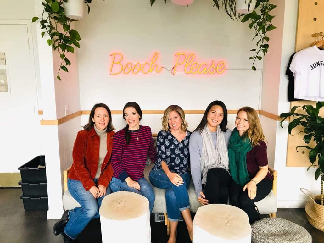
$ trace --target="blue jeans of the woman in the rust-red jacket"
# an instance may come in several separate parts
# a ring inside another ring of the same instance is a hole
[[[97,184],[98,179],[94,179]],[[101,201],[105,196],[94,198],[90,191],[86,191],[79,180],[67,180],[67,188],[72,197],[80,203],[81,207],[69,211],[69,221],[67,222],[64,232],[72,239],[76,239],[78,234],[87,226],[93,218],[99,217],[99,208]],[[106,196],[110,194],[110,188],[106,190]]]

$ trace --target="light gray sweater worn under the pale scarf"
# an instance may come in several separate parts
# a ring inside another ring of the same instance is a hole
[[[224,133],[226,145],[228,145],[229,137],[232,131],[227,128]],[[214,145],[216,146],[217,132],[211,133]],[[190,170],[193,185],[195,186],[195,191],[197,197],[200,197],[200,191],[202,191],[202,173],[200,171],[200,156],[203,151],[203,138],[199,131],[194,131],[189,140],[189,153],[190,153]]]

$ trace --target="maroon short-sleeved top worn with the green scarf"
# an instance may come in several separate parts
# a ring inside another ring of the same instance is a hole
[[[254,178],[259,171],[259,166],[268,165],[267,145],[264,141],[259,141],[260,145],[255,145],[246,154],[246,167],[248,169],[249,178]],[[272,179],[269,171],[264,179]]]

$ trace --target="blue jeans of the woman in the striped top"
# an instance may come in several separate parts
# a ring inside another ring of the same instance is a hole
[[[151,186],[150,183],[147,182],[147,180],[145,180],[145,178],[140,178],[138,179],[138,184],[140,184],[141,189],[137,190],[133,187],[129,187],[126,183],[126,181],[121,182],[120,179],[112,177],[111,181],[110,181],[110,189],[113,192],[116,191],[132,191],[135,192],[137,194],[140,194],[142,196],[145,196],[149,203],[150,203],[150,214],[152,213],[153,210],[153,206],[154,206],[154,201],[155,201],[155,195],[154,195],[154,191],[153,188]]]

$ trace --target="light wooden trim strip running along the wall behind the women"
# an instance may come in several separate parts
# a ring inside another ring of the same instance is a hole
[[[264,111],[264,110],[256,110],[258,114],[268,117],[275,121],[280,121],[280,116],[272,114],[270,112]],[[164,110],[143,110],[143,114],[146,115],[163,115]],[[202,115],[205,110],[184,110],[185,114],[193,114],[193,115]],[[39,110],[38,114],[42,114],[43,111]],[[228,114],[236,114],[237,110],[227,110]],[[59,118],[58,120],[41,120],[42,126],[58,126],[66,121],[70,121],[71,119],[81,116],[81,115],[89,115],[90,110],[79,110],[77,112],[74,112],[72,114],[69,114],[67,116],[64,116],[62,118]],[[113,115],[122,115],[122,110],[111,110],[111,114]]]

